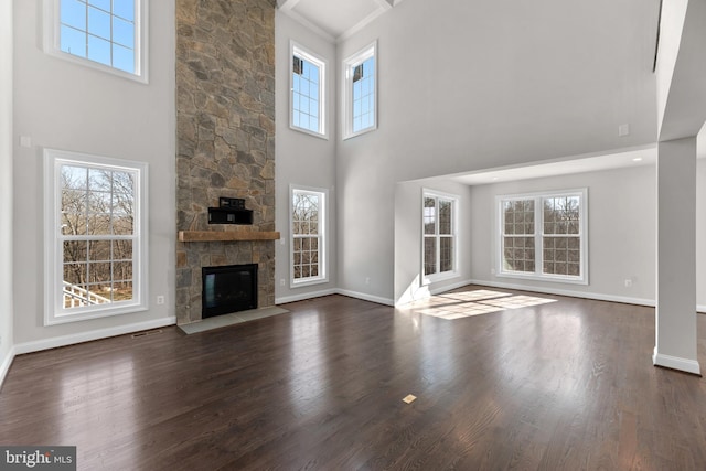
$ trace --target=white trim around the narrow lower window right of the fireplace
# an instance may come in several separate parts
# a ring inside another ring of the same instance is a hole
[[[319,276],[309,277],[304,279],[295,279],[295,192],[314,193],[322,197],[321,208],[319,210]],[[328,229],[329,229],[329,189],[306,186],[306,185],[289,185],[289,288],[301,288],[304,286],[321,285],[329,282],[329,267],[328,267]],[[323,222],[321,217],[323,216]]]

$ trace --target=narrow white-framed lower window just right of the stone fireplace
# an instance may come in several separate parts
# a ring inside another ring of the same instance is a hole
[[[290,285],[292,287],[328,281],[327,199],[327,190],[291,188]]]

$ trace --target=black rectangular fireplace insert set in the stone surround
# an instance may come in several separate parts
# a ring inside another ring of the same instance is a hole
[[[257,264],[202,268],[203,319],[257,309]]]

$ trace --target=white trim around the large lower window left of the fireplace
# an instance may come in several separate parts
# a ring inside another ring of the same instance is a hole
[[[132,300],[116,304],[99,304],[76,308],[75,311],[62,312],[63,296],[63,239],[61,228],[61,184],[60,168],[62,164],[106,168],[136,172],[136,210],[135,240],[132,247]],[[149,260],[149,218],[148,218],[148,173],[146,162],[136,162],[87,153],[71,152],[57,149],[44,149],[44,325],[85,321],[146,311],[148,307],[148,260]]]

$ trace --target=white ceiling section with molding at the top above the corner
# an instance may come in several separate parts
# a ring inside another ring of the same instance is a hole
[[[338,41],[402,0],[278,0],[279,9],[322,36]]]

